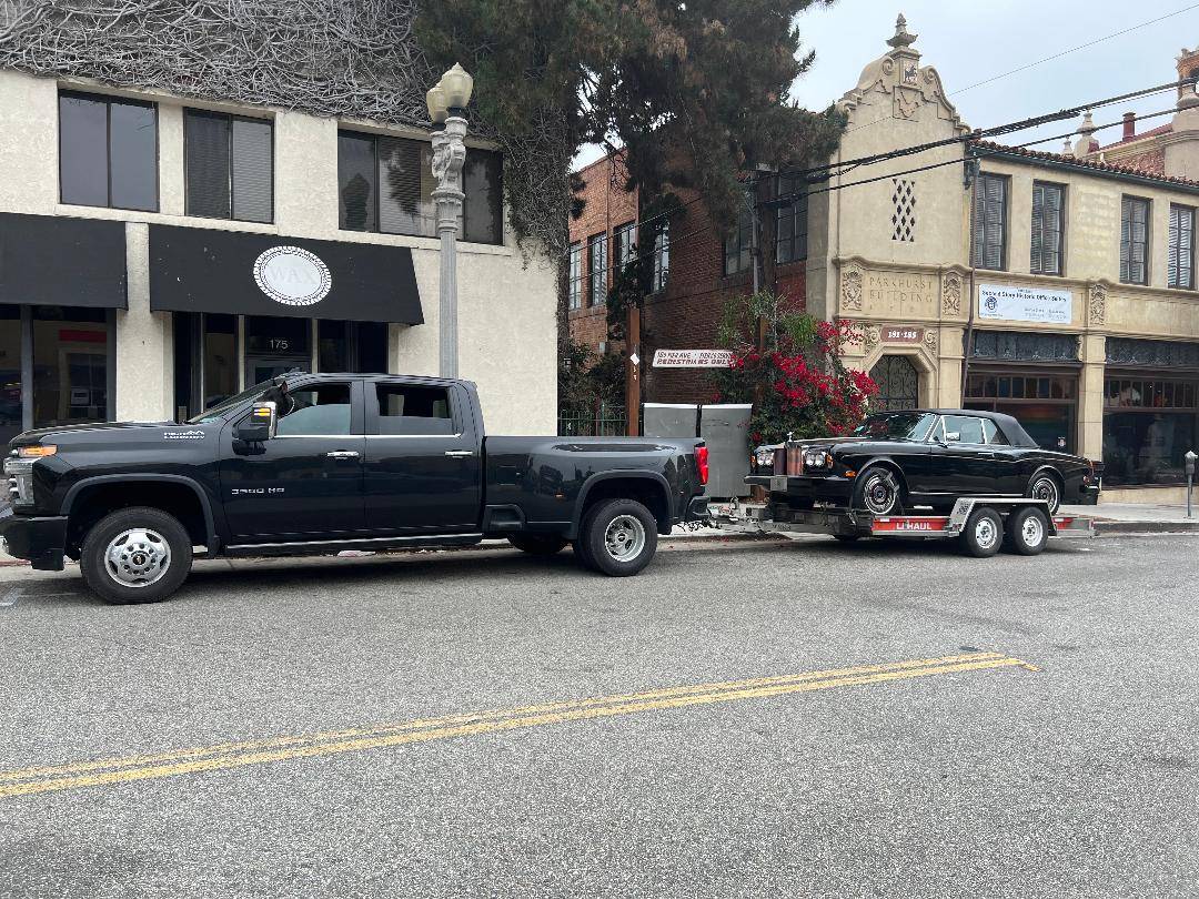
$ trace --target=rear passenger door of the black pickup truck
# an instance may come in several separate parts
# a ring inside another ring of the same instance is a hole
[[[452,381],[364,384],[367,527],[376,535],[474,533],[482,513],[482,435]]]

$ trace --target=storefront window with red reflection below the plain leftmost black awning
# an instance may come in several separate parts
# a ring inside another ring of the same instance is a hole
[[[34,309],[34,427],[103,422],[110,326],[104,309]]]

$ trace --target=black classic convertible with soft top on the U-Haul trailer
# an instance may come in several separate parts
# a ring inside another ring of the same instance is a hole
[[[1042,450],[1008,415],[965,409],[879,412],[846,438],[759,447],[746,481],[776,505],[815,503],[875,515],[927,506],[948,509],[959,496],[1031,496],[1053,511],[1093,505],[1096,466]]]

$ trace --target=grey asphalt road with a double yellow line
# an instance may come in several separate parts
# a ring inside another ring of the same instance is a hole
[[[1195,895],[1197,554],[0,569],[0,895]]]

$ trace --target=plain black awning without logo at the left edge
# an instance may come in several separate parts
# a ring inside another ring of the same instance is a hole
[[[125,309],[125,222],[0,213],[0,303]]]

